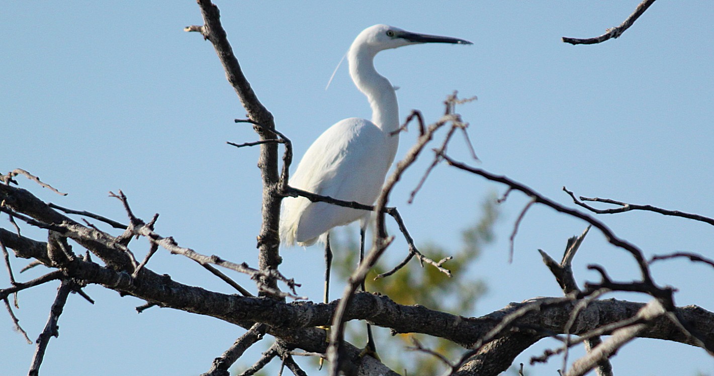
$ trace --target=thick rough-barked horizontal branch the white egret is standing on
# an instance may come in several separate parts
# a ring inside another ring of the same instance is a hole
[[[21,243],[13,239],[18,235],[9,231],[0,232],[0,236],[9,248],[11,248],[11,244]],[[41,250],[42,247],[38,245],[32,249]],[[149,269],[144,269],[139,278],[131,278],[127,273],[104,268],[79,258],[68,265],[67,273],[69,276],[85,280],[87,283],[99,283],[107,288],[134,295],[149,302],[160,302],[161,305],[168,308],[210,315],[244,327],[253,325],[252,323],[246,324],[246,322],[263,322],[273,326],[271,330],[268,330],[272,335],[290,340],[294,347],[310,352],[325,352],[324,330],[304,329],[301,332],[296,332],[295,329],[288,328],[328,325],[336,307],[334,302],[328,305],[311,302],[282,303],[268,298],[246,298],[238,295],[213,293],[202,288],[177,283],[170,278],[156,275]],[[375,325],[389,327],[393,332],[421,332],[470,347],[489,330],[492,330],[498,322],[501,322],[505,315],[521,308],[524,304],[526,303],[513,303],[503,310],[484,317],[466,318],[429,310],[422,306],[398,305],[384,296],[357,293],[353,297],[353,304],[346,308],[345,319],[369,320]],[[540,313],[524,315],[516,321],[515,325],[539,327],[544,331],[555,333],[563,332],[569,319],[568,313],[574,308],[573,304],[567,303],[557,308],[544,308],[540,310]],[[619,300],[597,300],[590,303],[578,315],[570,332],[579,335],[610,322],[625,320],[635,315],[643,305],[643,303]],[[696,306],[675,308],[675,313],[680,317],[680,321],[698,327],[698,330],[703,333],[706,345],[714,346],[714,313]],[[640,332],[640,336],[696,345],[690,337],[681,333],[670,320],[660,317],[655,322],[655,325]],[[538,339],[536,337],[533,340],[537,341]],[[358,349],[351,348],[354,349],[356,355],[359,353]],[[351,357],[348,356],[348,359]],[[362,362],[367,360],[371,362],[372,359],[363,357]]]

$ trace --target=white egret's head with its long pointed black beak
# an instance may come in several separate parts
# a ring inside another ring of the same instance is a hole
[[[352,44],[352,49],[368,49],[376,54],[386,49],[422,43],[472,44],[463,39],[448,36],[417,34],[389,25],[374,25],[364,29]]]

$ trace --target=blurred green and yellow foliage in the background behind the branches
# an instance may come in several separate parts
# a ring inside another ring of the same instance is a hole
[[[451,278],[432,265],[425,264],[422,268],[418,260],[413,258],[397,273],[374,280],[376,275],[390,270],[399,261],[383,258],[367,276],[367,290],[388,295],[403,305],[419,304],[456,315],[473,315],[478,298],[486,292],[486,285],[470,269],[476,263],[483,246],[493,241],[493,224],[498,219],[495,198],[485,200],[480,210],[476,211],[481,213],[481,218],[475,225],[462,231],[460,248],[453,250],[436,243],[417,245],[421,253],[433,260],[453,256],[453,260],[444,265],[451,270]],[[333,263],[333,270],[336,271],[333,278],[346,280],[357,265],[359,250],[356,238],[350,234],[346,236],[345,233],[331,236],[333,250],[338,250],[340,255]],[[388,330],[379,327],[373,327],[373,332],[381,360],[393,370],[404,370],[405,375],[437,375],[445,369],[443,362],[433,355],[424,352],[405,353],[405,347],[413,347],[412,337],[416,337],[423,347],[450,360],[458,358],[464,351],[463,347],[453,342],[427,335],[391,336]],[[366,330],[362,323],[353,323],[348,327],[347,335],[348,340],[356,345],[366,343]]]

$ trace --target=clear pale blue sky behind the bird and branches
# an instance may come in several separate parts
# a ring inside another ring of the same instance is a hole
[[[453,90],[478,101],[459,112],[481,165],[570,205],[576,194],[650,203],[714,216],[711,187],[714,3],[657,1],[620,39],[570,46],[561,36],[590,37],[617,26],[639,1],[361,1],[340,3],[220,1],[223,26],[243,71],[272,111],[278,129],[301,156],[324,129],[342,118],[370,118],[368,103],[346,66],[325,85],[354,37],[384,23],[409,31],[455,36],[473,46],[410,46],[385,51],[376,66],[400,86],[404,118],[411,108],[435,121]],[[0,170],[24,168],[69,195],[61,197],[20,179],[39,197],[126,221],[109,190],[124,190],[135,213],[160,213],[157,231],[200,253],[257,264],[261,187],[258,150],[226,141],[254,141],[236,125],[243,109],[225,80],[211,44],[183,26],[201,24],[194,1],[6,1],[0,12]],[[416,139],[403,134],[397,158]],[[468,160],[456,140],[451,155]],[[478,205],[503,186],[446,166],[436,169],[413,205],[408,193],[430,158],[422,158],[392,195],[417,243],[458,246]],[[585,223],[533,207],[508,263],[508,236],[527,203],[516,193],[501,205],[498,241],[473,273],[488,295],[473,313],[484,315],[537,296],[561,295],[537,249],[559,255]],[[714,228],[654,213],[601,216],[646,255],[686,250],[714,257]],[[2,220],[4,228],[9,223]],[[41,233],[24,226],[24,235]],[[134,252],[148,250],[143,240]],[[389,257],[406,254],[396,243]],[[303,283],[299,293],[321,299],[320,248],[283,250],[283,273]],[[340,256],[336,255],[338,261]],[[12,260],[19,270],[26,260]],[[623,250],[591,231],[575,259],[578,281],[603,265],[613,278],[638,277]],[[195,263],[161,250],[149,263],[181,283],[232,293]],[[35,268],[19,277],[46,273]],[[678,305],[714,310],[714,270],[676,260],[653,265],[660,285],[673,285]],[[254,288],[247,278],[236,279]],[[0,283],[8,286],[6,273]],[[339,285],[339,281],[336,281]],[[41,332],[56,283],[20,295],[16,314],[32,339]],[[339,288],[336,287],[338,291]],[[99,286],[89,305],[71,295],[41,375],[197,375],[208,370],[242,330],[210,317],[151,308]],[[640,300],[640,295],[610,297]],[[542,341],[516,360],[540,355]],[[262,347],[261,347],[262,348]],[[3,375],[24,375],[34,346],[0,313]],[[243,364],[257,359],[258,350]],[[571,355],[572,356],[572,355]],[[704,350],[636,340],[613,358],[618,375],[714,374]],[[560,360],[527,367],[556,375]],[[311,367],[308,372],[318,374]]]

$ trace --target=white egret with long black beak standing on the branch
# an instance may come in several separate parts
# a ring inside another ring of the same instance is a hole
[[[372,120],[346,118],[328,128],[306,151],[290,186],[340,200],[374,204],[394,161],[400,125],[394,87],[377,73],[374,56],[386,49],[423,43],[471,44],[463,39],[416,34],[388,25],[370,26],[357,36],[347,54],[350,76],[367,96]],[[369,217],[367,210],[312,203],[303,197],[284,200],[280,230],[283,244],[306,246],[318,240],[325,243],[325,303],[332,259],[329,231],[359,220],[362,260]]]

